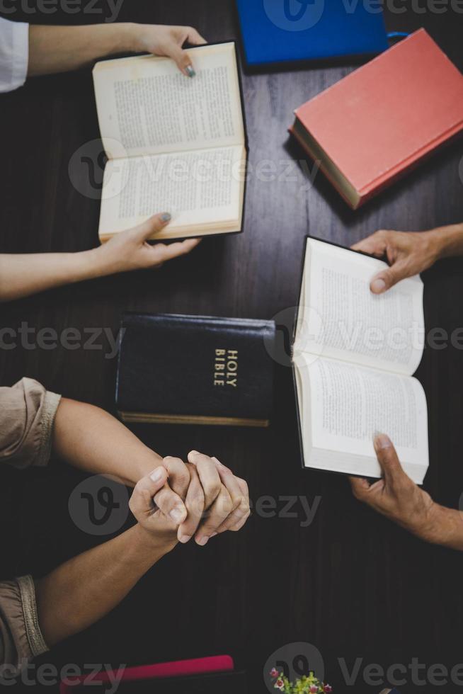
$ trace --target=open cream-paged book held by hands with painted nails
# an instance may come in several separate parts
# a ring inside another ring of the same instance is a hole
[[[108,156],[101,241],[156,212],[172,215],[156,239],[241,231],[247,152],[235,44],[188,52],[193,78],[151,55],[93,68]]]

